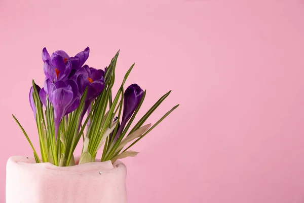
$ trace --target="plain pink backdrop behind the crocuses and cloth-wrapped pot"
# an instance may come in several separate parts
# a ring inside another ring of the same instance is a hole
[[[304,202],[304,2],[0,1],[0,196],[12,155],[39,146],[28,104],[44,80],[41,51],[91,48],[117,81],[147,89],[149,120],[180,107],[133,150],[129,202]],[[117,88],[117,86],[116,86]]]

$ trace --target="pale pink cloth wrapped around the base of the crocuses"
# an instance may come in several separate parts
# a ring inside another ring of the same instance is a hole
[[[126,175],[120,161],[58,167],[13,156],[7,163],[6,202],[126,203]]]

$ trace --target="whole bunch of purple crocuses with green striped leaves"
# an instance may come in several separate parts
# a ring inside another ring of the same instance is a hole
[[[25,130],[13,115],[32,147],[37,163],[51,162],[57,166],[74,165],[73,152],[83,138],[84,145],[79,164],[94,162],[97,151],[103,147],[101,161],[135,156],[129,148],[155,128],[174,109],[168,111],[153,126],[144,124],[171,91],[163,95],[142,118],[131,127],[146,91],[137,84],[124,90],[125,82],[134,64],[126,73],[115,96],[112,87],[119,51],[104,70],[84,65],[89,57],[87,47],[74,57],[63,50],[50,54],[42,51],[45,82],[40,88],[32,81],[29,103],[34,113],[39,134],[41,159]]]

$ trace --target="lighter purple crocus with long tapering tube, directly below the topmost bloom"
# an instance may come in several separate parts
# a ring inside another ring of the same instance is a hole
[[[78,86],[72,80],[52,83],[50,79],[47,79],[39,95],[44,105],[46,105],[46,95],[53,105],[55,138],[57,138],[63,116],[77,109],[80,104]]]

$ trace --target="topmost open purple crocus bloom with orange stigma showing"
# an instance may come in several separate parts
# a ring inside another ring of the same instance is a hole
[[[69,57],[63,50],[58,50],[50,56],[46,48],[42,50],[42,60],[44,61],[44,72],[51,81],[66,80],[74,75],[89,57],[90,48],[79,52],[74,57]]]

